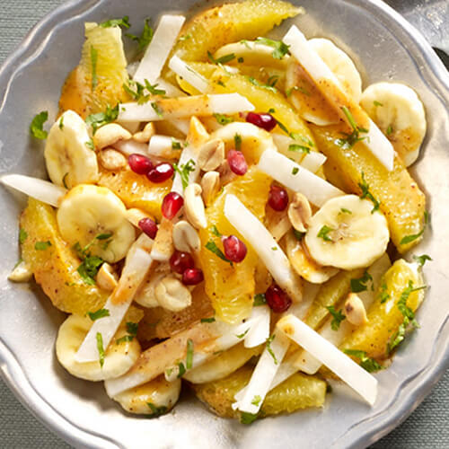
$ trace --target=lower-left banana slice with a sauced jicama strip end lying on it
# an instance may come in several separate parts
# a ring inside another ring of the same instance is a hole
[[[100,365],[100,351],[98,362],[79,363],[75,361],[76,351],[83,343],[89,329],[91,329],[92,322],[90,318],[85,316],[70,315],[61,324],[57,332],[57,360],[70,374],[86,381],[104,381],[125,374],[136,363],[141,352],[137,339],[117,343],[118,339],[128,335],[125,326],[120,326],[117,330],[110,347],[104,348],[104,364],[102,367]]]

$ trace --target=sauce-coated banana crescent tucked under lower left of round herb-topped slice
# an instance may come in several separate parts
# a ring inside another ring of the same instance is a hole
[[[304,248],[304,242],[298,242],[294,233],[286,234],[286,255],[296,273],[312,284],[322,284],[335,276],[339,269],[321,267]]]

